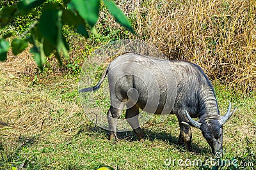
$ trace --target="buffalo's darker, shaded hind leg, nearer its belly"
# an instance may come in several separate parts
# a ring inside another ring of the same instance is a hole
[[[127,105],[128,107],[128,105]],[[142,140],[145,137],[144,132],[140,128],[139,124],[139,108],[137,105],[132,106],[131,108],[128,108],[126,110],[125,119],[131,125],[133,131],[135,132],[136,136],[140,140]]]

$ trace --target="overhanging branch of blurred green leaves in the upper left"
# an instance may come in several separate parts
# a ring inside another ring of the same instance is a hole
[[[30,52],[33,53],[35,62],[42,71],[46,57],[51,53],[54,53],[61,66],[61,56],[63,55],[67,59],[69,57],[68,44],[62,32],[63,25],[70,26],[84,38],[88,38],[88,31],[92,30],[99,20],[100,4],[104,4],[108,8],[116,22],[135,33],[127,17],[113,1],[63,0],[62,3],[58,3],[58,1],[51,0],[22,0],[17,5],[2,8],[0,29],[10,25],[16,17],[26,16],[35,9],[42,10],[40,17],[31,24],[28,31],[19,38],[13,38],[11,43],[0,38],[0,60],[6,60],[10,48],[12,48],[13,54],[17,55],[28,48],[30,43],[32,45]],[[8,35],[4,37],[8,38]]]

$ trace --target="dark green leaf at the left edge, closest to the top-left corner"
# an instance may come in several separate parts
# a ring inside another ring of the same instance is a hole
[[[16,16],[16,6],[4,7],[0,13],[0,27],[4,27]]]

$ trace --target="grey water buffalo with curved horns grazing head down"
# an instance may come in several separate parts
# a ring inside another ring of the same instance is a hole
[[[179,143],[191,150],[191,129],[202,131],[212,153],[223,152],[223,124],[236,111],[220,115],[216,94],[211,81],[201,67],[183,60],[164,60],[125,53],[113,60],[99,83],[79,90],[99,89],[108,74],[111,106],[107,117],[110,139],[116,138],[117,119],[124,106],[125,118],[139,139],[145,134],[138,122],[139,108],[148,113],[175,114],[179,120]],[[198,117],[196,122],[193,118]]]

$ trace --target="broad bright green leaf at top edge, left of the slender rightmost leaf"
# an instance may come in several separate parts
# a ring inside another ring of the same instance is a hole
[[[99,18],[99,0],[72,0],[68,8],[76,10],[79,15],[93,27]]]

